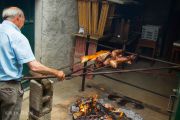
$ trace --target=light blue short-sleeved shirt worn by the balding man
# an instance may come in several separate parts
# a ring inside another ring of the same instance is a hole
[[[23,64],[35,60],[28,39],[12,22],[0,24],[0,81],[22,77]]]

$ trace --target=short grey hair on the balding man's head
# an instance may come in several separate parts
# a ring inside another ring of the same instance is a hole
[[[2,18],[3,20],[11,20],[15,16],[23,17],[24,13],[23,11],[18,7],[9,7],[5,8],[2,12]]]

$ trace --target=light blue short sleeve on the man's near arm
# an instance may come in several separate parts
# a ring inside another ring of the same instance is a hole
[[[21,33],[13,35],[12,48],[19,64],[28,63],[35,60],[28,39]]]

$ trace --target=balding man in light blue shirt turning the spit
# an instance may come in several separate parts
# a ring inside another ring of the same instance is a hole
[[[27,38],[20,29],[25,17],[21,9],[9,7],[3,10],[0,24],[0,120],[18,120],[22,93],[20,80],[23,64],[30,70],[44,75],[55,75],[63,80],[65,74],[36,61]]]

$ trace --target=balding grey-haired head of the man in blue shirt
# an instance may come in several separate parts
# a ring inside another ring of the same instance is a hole
[[[2,13],[3,20],[13,22],[19,29],[24,26],[25,17],[23,11],[18,7],[5,8]]]

